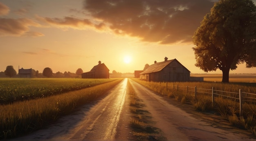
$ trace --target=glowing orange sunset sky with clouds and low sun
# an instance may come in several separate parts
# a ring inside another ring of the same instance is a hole
[[[193,74],[192,36],[216,0],[0,0],[0,72],[112,73],[177,59]],[[256,0],[254,0],[254,3]],[[208,72],[221,74],[220,70]],[[256,73],[238,65],[230,73]]]

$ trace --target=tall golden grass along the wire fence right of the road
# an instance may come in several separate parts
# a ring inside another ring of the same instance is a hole
[[[162,95],[167,95],[168,98],[174,98],[177,101],[185,104],[191,104],[196,111],[214,111],[215,113],[219,113],[223,118],[227,119],[232,125],[246,129],[249,132],[252,132],[254,136],[256,136],[256,105],[250,103],[243,104],[243,115],[239,115],[239,103],[225,99],[216,97],[214,99],[214,103],[212,104],[211,95],[207,94],[198,94],[195,100],[195,95],[188,94],[186,91],[177,89],[167,89],[166,83],[162,83],[159,85],[159,82],[146,82],[141,81],[136,78],[132,78],[132,80],[139,82],[141,85],[158,92]],[[175,82],[175,85],[179,86],[197,86],[200,88],[210,89],[214,87],[214,89],[218,89],[220,91],[238,91],[239,89],[243,89],[243,91],[247,91],[248,93],[255,93],[256,87],[255,84],[252,83],[216,83],[216,82]]]

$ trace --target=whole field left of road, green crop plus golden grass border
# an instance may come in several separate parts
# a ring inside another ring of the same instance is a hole
[[[99,99],[121,80],[123,79],[0,79],[1,100],[9,103],[0,104],[0,139],[18,137],[43,128],[58,117],[75,111],[77,107]]]

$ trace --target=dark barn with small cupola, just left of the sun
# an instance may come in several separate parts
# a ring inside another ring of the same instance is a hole
[[[101,61],[98,62],[98,65],[95,65],[90,72],[82,73],[82,78],[109,78],[109,69]]]

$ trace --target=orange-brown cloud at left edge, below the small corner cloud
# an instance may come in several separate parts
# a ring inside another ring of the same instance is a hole
[[[39,27],[40,24],[27,18],[0,18],[0,36],[42,36],[42,33],[30,32],[29,26]]]

